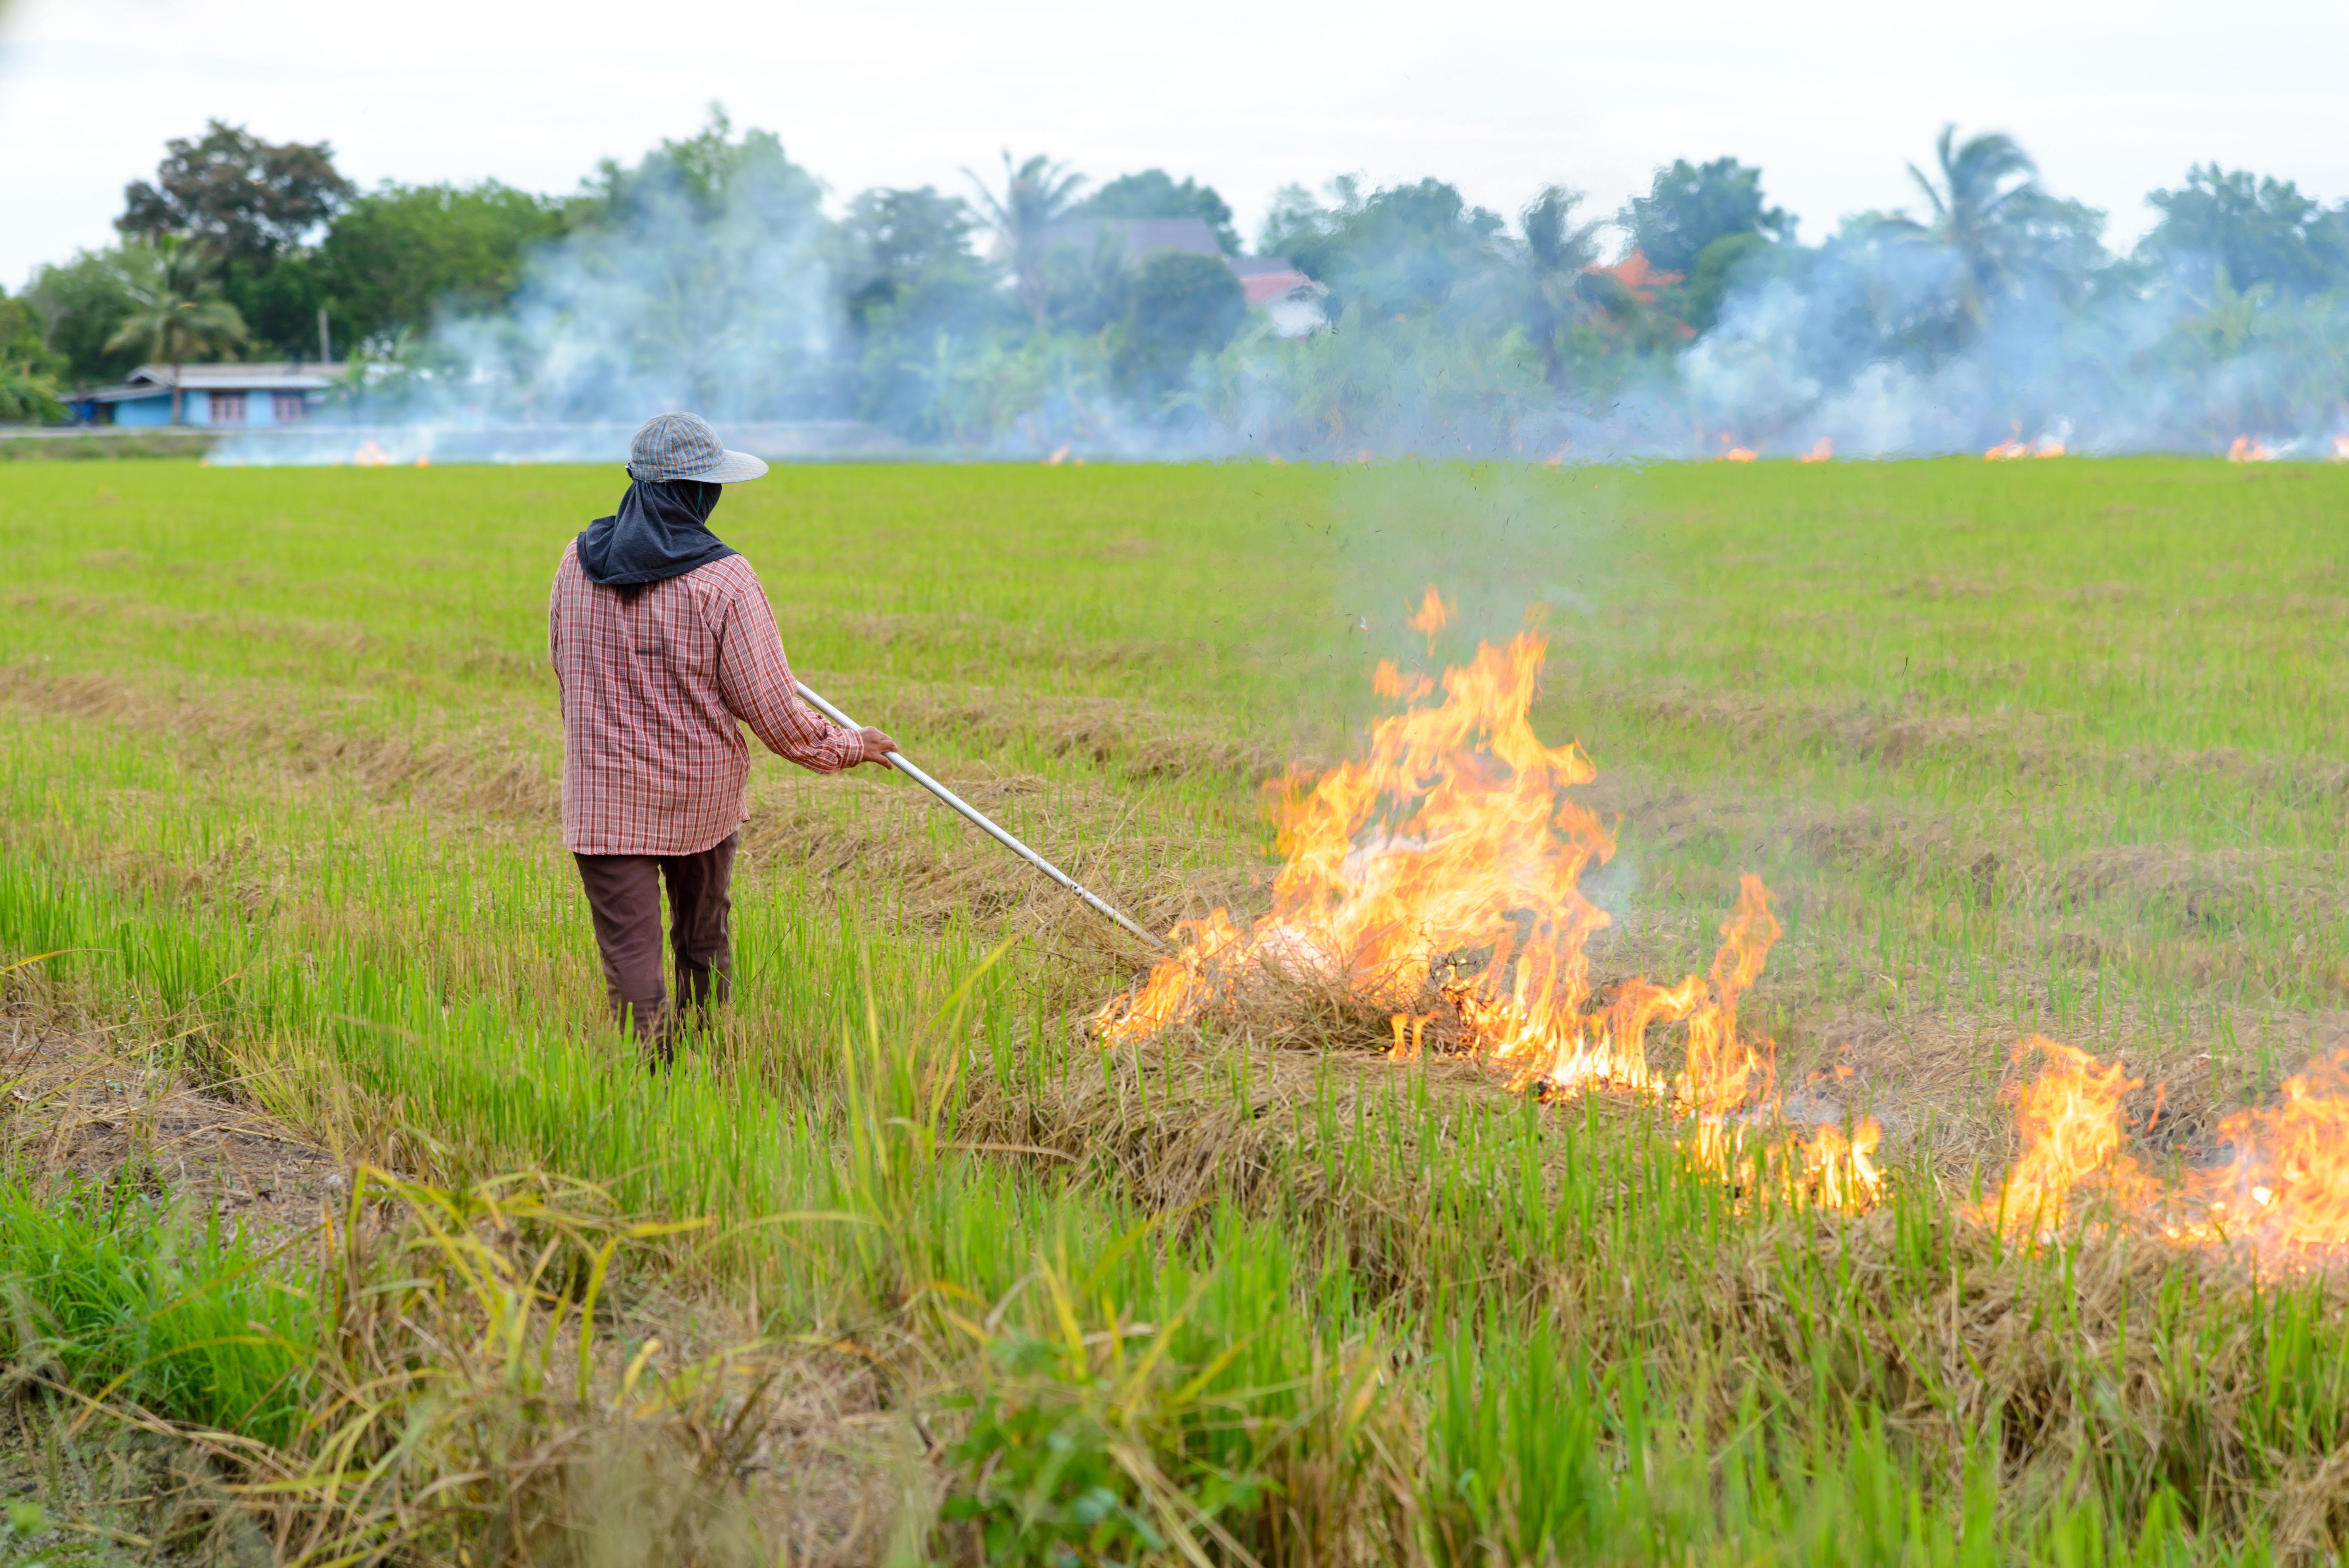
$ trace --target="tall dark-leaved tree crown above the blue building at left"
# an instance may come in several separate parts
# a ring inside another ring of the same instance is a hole
[[[202,141],[167,141],[155,183],[122,190],[115,228],[127,237],[190,235],[256,275],[327,223],[350,197],[324,141],[261,141],[211,120]]]

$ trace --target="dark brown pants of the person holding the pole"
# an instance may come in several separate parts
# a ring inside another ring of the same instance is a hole
[[[677,1049],[679,1014],[707,1016],[733,988],[733,852],[738,833],[700,854],[573,854],[594,946],[604,955],[604,995],[622,1026],[653,1047],[667,1066]],[[677,1007],[660,984],[660,883],[669,883],[669,946],[677,951]]]

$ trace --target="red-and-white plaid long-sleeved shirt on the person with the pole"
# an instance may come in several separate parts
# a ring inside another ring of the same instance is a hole
[[[564,690],[564,847],[698,854],[742,826],[749,746],[815,772],[871,761],[855,730],[799,699],[775,613],[742,556],[648,582],[632,599],[564,549],[547,601]]]

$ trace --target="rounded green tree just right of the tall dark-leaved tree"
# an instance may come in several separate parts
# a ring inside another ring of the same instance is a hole
[[[561,232],[561,202],[498,181],[385,181],[336,214],[317,246],[317,277],[348,343],[388,340],[442,317],[505,310],[531,249]]]

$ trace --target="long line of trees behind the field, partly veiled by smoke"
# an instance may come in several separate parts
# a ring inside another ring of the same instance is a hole
[[[1386,401],[1416,399],[1426,427],[1478,425],[1485,446],[1522,446],[1534,427],[1548,441],[1635,394],[1663,425],[1792,430],[1865,366],[1933,378],[1973,354],[2013,376],[1997,347],[2015,324],[2100,324],[2067,329],[2112,338],[2098,338],[2093,373],[2065,371],[2041,401],[2109,401],[2142,376],[2114,354],[2201,373],[2274,354],[2279,326],[2349,298],[2349,202],[2213,162],[2154,190],[2159,221],[2114,254],[2105,216],[2051,195],[2013,138],[1945,129],[1931,164],[1910,169],[1912,207],[1849,216],[1818,244],[1734,157],[1658,167],[1616,214],[1564,185],[1513,216],[1440,178],[1290,185],[1257,254],[1320,286],[1330,331],[1276,343],[1214,256],[1048,244],[1069,218],[1198,218],[1240,254],[1212,188],[1163,169],[1095,185],[1010,153],[984,178],[963,174],[956,190],[864,190],[829,216],[773,134],[735,134],[714,113],[634,164],[604,162],[571,195],[498,181],[359,190],[327,143],[216,120],[124,190],[120,244],[0,298],[0,418],[59,418],[66,390],[143,361],[317,359],[324,319],[357,366],[348,394],[378,411],[601,418],[630,399],[691,399],[731,418],[853,413],[963,444],[1221,420],[1334,451],[1372,439],[1377,420],[1407,439],[1377,408],[1402,378],[1412,397]],[[1778,300],[1766,326],[1762,300]],[[2156,310],[2159,347],[2121,326],[2128,310]],[[1759,392],[1757,357],[1776,378]],[[2333,359],[2295,361],[2279,371],[2290,385],[2262,397],[2304,418]],[[2020,423],[2034,394],[2001,397]]]

